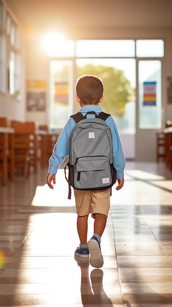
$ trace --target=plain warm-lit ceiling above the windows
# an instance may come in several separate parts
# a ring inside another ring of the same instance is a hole
[[[2,0],[25,31],[172,27],[172,0]]]

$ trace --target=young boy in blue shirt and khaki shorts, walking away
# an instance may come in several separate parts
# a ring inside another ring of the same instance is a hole
[[[89,111],[95,111],[97,114],[103,110],[99,103],[103,101],[103,83],[99,77],[84,75],[76,81],[76,99],[80,104],[81,112],[85,115]],[[95,117],[89,114],[89,117]],[[106,119],[106,124],[112,132],[114,167],[117,171],[118,186],[116,190],[123,187],[123,171],[125,167],[125,158],[116,124],[111,116]],[[49,171],[47,175],[47,184],[53,189],[55,184],[55,174],[69,154],[69,141],[72,130],[76,125],[73,118],[70,118],[61,135],[54,146],[53,153],[49,158]],[[101,191],[80,191],[74,189],[76,213],[77,213],[77,231],[80,239],[80,245],[75,251],[75,256],[88,258],[93,267],[102,267],[103,257],[100,250],[100,238],[106,226],[106,220],[110,208],[111,189]],[[87,243],[88,216],[91,213],[95,219],[94,235]]]

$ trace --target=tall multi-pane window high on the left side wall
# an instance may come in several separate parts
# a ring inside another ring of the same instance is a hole
[[[0,1],[0,91],[20,99],[20,78],[21,30]]]

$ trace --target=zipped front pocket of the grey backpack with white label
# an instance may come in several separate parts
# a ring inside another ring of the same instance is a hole
[[[74,173],[76,189],[103,189],[112,183],[110,163],[106,156],[78,158]]]

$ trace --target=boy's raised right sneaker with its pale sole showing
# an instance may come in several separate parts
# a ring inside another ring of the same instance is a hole
[[[97,237],[93,236],[88,241],[88,249],[90,252],[90,264],[94,268],[101,268],[103,266],[103,257]]]

